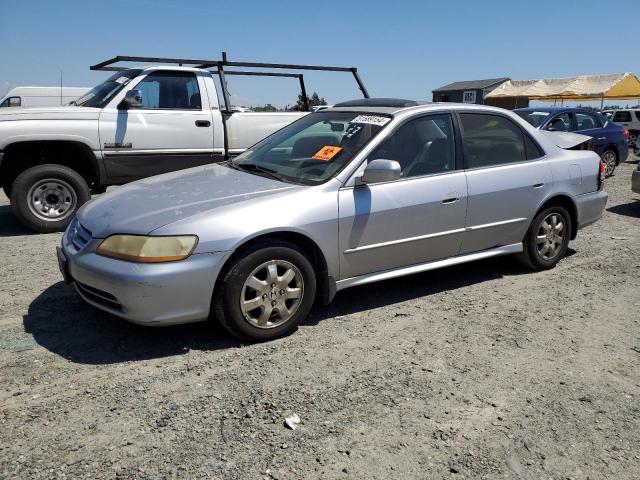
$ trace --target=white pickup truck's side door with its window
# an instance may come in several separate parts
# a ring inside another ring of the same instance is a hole
[[[129,89],[140,91],[140,108],[111,102],[100,114],[107,177],[129,181],[216,160],[211,110],[199,74],[151,71]]]

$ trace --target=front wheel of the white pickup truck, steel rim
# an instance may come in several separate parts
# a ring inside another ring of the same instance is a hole
[[[11,186],[11,207],[18,220],[40,233],[62,232],[80,206],[91,198],[89,185],[62,165],[29,168]]]

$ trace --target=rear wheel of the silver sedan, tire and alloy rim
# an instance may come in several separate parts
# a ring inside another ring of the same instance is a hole
[[[551,228],[548,230],[548,227]],[[517,255],[517,258],[532,270],[549,270],[564,258],[570,238],[571,217],[569,212],[563,207],[551,206],[538,213],[531,222],[524,237],[524,250]],[[553,250],[545,252],[545,246],[553,248]]]

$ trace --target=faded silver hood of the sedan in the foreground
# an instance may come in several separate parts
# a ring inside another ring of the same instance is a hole
[[[117,187],[78,211],[94,238],[148,234],[198,213],[304,188],[220,165],[167,173]]]

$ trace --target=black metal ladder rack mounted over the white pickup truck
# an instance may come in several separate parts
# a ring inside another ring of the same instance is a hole
[[[222,96],[227,111],[231,111],[231,103],[229,100],[229,89],[227,88],[227,82],[225,75],[255,75],[264,77],[292,77],[298,78],[300,81],[300,90],[302,93],[302,99],[304,102],[305,110],[309,110],[309,101],[307,98],[307,92],[304,85],[304,77],[302,74],[294,73],[272,73],[272,72],[256,72],[256,71],[242,71],[242,70],[225,70],[225,67],[245,67],[245,68],[265,68],[265,69],[286,69],[286,70],[316,70],[325,72],[350,72],[353,75],[358,89],[362,92],[364,98],[369,98],[369,92],[367,92],[360,75],[358,75],[358,69],[356,67],[330,67],[321,65],[292,65],[286,63],[258,63],[258,62],[230,62],[227,59],[227,52],[222,52],[222,60],[197,60],[189,58],[160,58],[160,57],[131,57],[118,55],[117,57],[110,58],[104,62],[91,65],[90,70],[102,70],[108,72],[119,72],[125,70],[125,67],[115,66],[114,64],[120,62],[141,62],[141,63],[160,63],[160,64],[177,64],[179,66],[188,65],[195,68],[216,68],[216,70],[210,70],[212,74],[218,75],[220,79],[220,85],[222,88]]]

